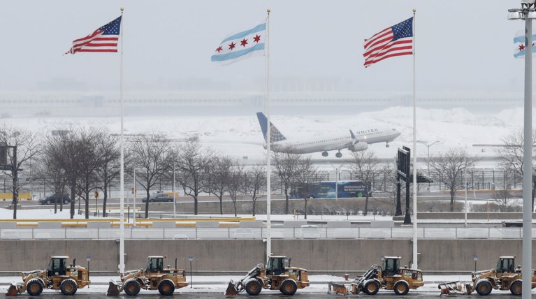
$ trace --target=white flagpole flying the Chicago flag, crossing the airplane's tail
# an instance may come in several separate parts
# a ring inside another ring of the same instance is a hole
[[[272,213],[272,203],[271,201],[271,182],[270,176],[272,170],[270,168],[270,134],[272,133],[272,128],[270,128],[270,8],[266,10],[268,17],[266,17],[266,262],[268,263],[268,258],[272,255],[272,221],[270,219],[270,214]]]

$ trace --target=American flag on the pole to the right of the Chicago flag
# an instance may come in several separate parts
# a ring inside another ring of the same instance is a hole
[[[413,54],[413,17],[365,39],[365,68],[383,59]]]

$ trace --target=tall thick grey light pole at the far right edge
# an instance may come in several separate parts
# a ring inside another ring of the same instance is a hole
[[[523,124],[523,288],[522,298],[531,297],[532,268],[532,145],[533,145],[533,19],[536,0],[521,0],[521,8],[508,10],[508,20],[525,20],[525,105]]]

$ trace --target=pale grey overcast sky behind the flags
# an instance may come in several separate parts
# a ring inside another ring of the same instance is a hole
[[[417,89],[422,92],[521,92],[523,60],[507,20],[520,1],[15,1],[0,2],[0,91],[34,90],[73,80],[85,90],[119,88],[118,53],[62,54],[75,38],[120,15],[124,6],[125,89],[263,86],[264,60],[216,66],[210,56],[229,34],[251,29],[270,8],[270,77],[328,78],[336,90],[411,92],[411,56],[363,67],[363,39],[416,17]],[[226,84],[221,84],[222,82]],[[229,82],[231,84],[229,85]]]

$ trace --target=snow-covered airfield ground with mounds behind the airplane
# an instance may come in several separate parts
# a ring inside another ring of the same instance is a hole
[[[394,128],[402,134],[391,147],[375,144],[369,151],[379,158],[391,158],[402,145],[412,147],[413,110],[409,107],[392,107],[374,112],[360,112],[355,115],[272,115],[271,121],[287,138],[309,138],[326,134],[346,133],[375,127]],[[119,133],[119,117],[55,118],[55,117],[13,117],[0,119],[0,124],[12,124],[33,131],[48,132],[62,126],[107,126]],[[500,144],[500,138],[512,129],[523,126],[523,109],[512,108],[500,112],[471,112],[464,108],[423,109],[417,108],[417,140],[428,143],[440,141],[430,146],[430,154],[451,147],[467,147],[475,156],[493,156],[493,149],[473,147],[474,144]],[[246,159],[247,163],[263,160],[265,149],[256,115],[245,116],[189,116],[189,117],[124,117],[124,133],[164,133],[168,138],[181,140],[196,135],[203,145]],[[417,144],[418,156],[428,154],[428,148]],[[343,154],[348,154],[345,151]],[[313,159],[323,159],[320,153],[312,154]],[[330,155],[334,158],[334,154]],[[481,162],[486,163],[486,162]],[[489,167],[489,166],[481,166]]]

